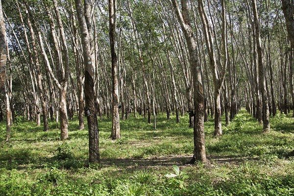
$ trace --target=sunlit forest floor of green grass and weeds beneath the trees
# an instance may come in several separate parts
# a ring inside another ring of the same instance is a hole
[[[0,195],[205,196],[294,195],[294,120],[270,118],[270,133],[241,111],[223,135],[205,123],[207,164],[188,163],[193,154],[189,117],[157,116],[157,128],[143,117],[121,121],[122,138],[109,139],[111,119],[99,120],[100,164],[87,165],[88,130],[69,121],[69,140],[59,140],[58,123],[49,132],[33,122],[12,126],[5,141],[0,122]],[[224,122],[224,120],[223,120]],[[87,124],[85,124],[87,127]],[[178,169],[182,172],[176,175]],[[168,178],[166,174],[174,173]],[[186,174],[189,178],[186,178]]]

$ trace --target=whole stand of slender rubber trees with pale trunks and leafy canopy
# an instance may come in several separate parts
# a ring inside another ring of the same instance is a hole
[[[241,107],[269,132],[269,116],[294,106],[290,0],[6,0],[2,6],[0,120],[5,111],[7,141],[17,116],[37,125],[43,117],[44,131],[49,120],[60,122],[66,140],[68,119],[76,113],[83,129],[86,114],[90,162],[98,162],[103,114],[112,116],[111,138],[118,139],[120,120],[131,114],[147,123],[153,116],[156,128],[158,113],[175,114],[179,123],[187,111],[192,162],[205,162],[209,115],[215,136],[222,134],[221,116],[227,125]]]

